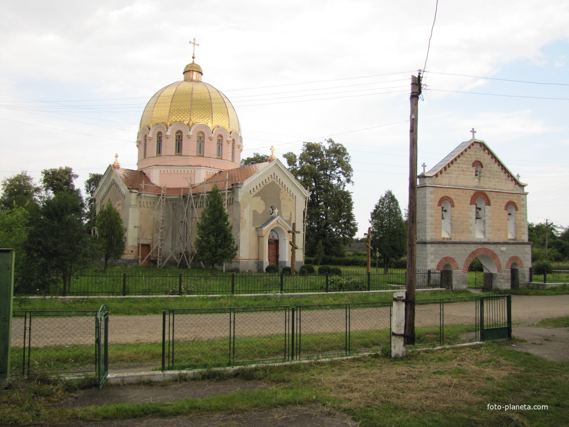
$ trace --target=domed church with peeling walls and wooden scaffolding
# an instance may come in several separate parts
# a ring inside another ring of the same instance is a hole
[[[237,113],[223,93],[201,80],[203,71],[194,59],[182,81],[160,89],[146,105],[136,142],[137,169],[123,169],[116,157],[94,192],[97,211],[110,200],[121,214],[127,240],[123,260],[185,267],[196,264],[196,224],[217,186],[238,245],[225,268],[290,266],[292,251],[295,265],[302,265],[310,193],[274,149],[269,162],[240,167]]]

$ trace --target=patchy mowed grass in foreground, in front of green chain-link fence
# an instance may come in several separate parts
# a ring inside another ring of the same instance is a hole
[[[225,379],[225,375],[223,371],[204,373],[211,380]],[[514,351],[508,343],[417,351],[402,360],[366,356],[263,366],[242,369],[237,375],[263,381],[270,389],[169,403],[69,408],[56,403],[79,388],[91,387],[92,381],[44,379],[16,383],[0,392],[0,419],[5,425],[146,418],[159,422],[161,417],[175,416],[215,416],[222,421],[224,414],[240,413],[246,419],[249,412],[320,404],[331,413],[348,414],[361,426],[569,425],[569,363]],[[156,393],[160,385],[153,386]],[[488,405],[547,405],[547,409],[497,410]]]

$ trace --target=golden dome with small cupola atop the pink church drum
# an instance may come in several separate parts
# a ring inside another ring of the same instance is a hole
[[[218,126],[229,133],[241,127],[237,113],[229,99],[212,85],[201,81],[201,67],[192,61],[184,69],[184,80],[176,81],[150,98],[142,113],[139,129],[156,124],[169,128],[175,122],[183,122],[192,128],[196,124]]]

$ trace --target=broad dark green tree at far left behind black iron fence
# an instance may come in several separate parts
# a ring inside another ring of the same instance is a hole
[[[28,270],[42,276],[60,275],[63,294],[67,293],[73,274],[92,260],[93,244],[84,216],[81,194],[68,189],[44,199],[30,221],[32,227],[24,245],[30,262]]]

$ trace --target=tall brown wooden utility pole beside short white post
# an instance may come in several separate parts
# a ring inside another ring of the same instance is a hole
[[[409,209],[407,213],[407,277],[405,282],[405,344],[415,344],[415,278],[417,276],[417,122],[421,75],[411,76],[409,126]]]

